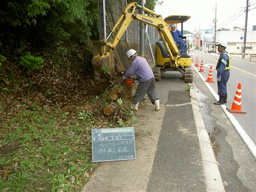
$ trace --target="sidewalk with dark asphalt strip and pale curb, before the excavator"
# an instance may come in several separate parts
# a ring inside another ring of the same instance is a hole
[[[160,111],[136,112],[137,159],[99,163],[82,191],[224,191],[193,84],[170,73],[157,82]]]

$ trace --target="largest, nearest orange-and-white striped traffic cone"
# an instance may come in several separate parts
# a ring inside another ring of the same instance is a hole
[[[241,83],[238,83],[238,89],[236,95],[234,95],[234,101],[230,109],[227,109],[229,113],[239,113],[239,114],[246,114],[242,110],[242,91],[241,91]]]

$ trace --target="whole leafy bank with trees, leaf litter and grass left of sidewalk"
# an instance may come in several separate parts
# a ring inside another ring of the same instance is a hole
[[[93,74],[98,26],[97,0],[1,2],[1,191],[80,191],[97,167],[91,130],[137,121],[133,88]],[[117,108],[107,117],[109,103]]]

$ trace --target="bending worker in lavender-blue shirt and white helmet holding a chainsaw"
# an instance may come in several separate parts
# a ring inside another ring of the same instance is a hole
[[[130,49],[126,53],[127,59],[132,60],[131,67],[123,75],[123,79],[131,77],[133,74],[137,75],[139,84],[133,97],[132,109],[138,111],[139,103],[144,99],[147,94],[152,104],[155,105],[155,110],[159,111],[160,100],[156,92],[156,81],[153,71],[144,57],[137,55],[137,51]]]

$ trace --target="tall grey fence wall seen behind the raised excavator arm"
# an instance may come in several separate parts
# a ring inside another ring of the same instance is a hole
[[[127,5],[126,0],[99,0],[99,32],[100,39],[106,39],[111,33],[111,29],[115,25],[119,16],[121,15],[124,7]],[[139,43],[139,28],[138,20],[132,20],[127,30],[122,35],[120,41],[122,42],[136,42]],[[148,44],[155,44],[159,39],[157,29],[148,25],[145,35],[145,42]],[[112,40],[113,36],[110,36],[108,40]]]

